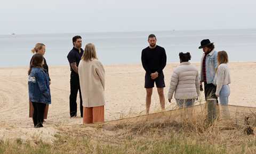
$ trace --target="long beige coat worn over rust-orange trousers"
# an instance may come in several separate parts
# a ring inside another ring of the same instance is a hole
[[[105,70],[98,59],[80,61],[78,66],[83,107],[105,105]]]

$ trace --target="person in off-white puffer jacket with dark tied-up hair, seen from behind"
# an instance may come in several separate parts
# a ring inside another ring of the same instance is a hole
[[[200,95],[200,83],[198,70],[194,65],[191,65],[190,53],[180,53],[180,66],[175,68],[168,93],[169,102],[171,102],[173,93],[177,105],[182,107],[193,106],[195,100]]]

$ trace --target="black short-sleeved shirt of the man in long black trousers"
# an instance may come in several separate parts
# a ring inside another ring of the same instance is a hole
[[[79,53],[79,50],[75,47],[73,47],[72,50],[70,50],[70,52],[68,53],[68,62],[69,62],[69,65],[70,65],[70,71],[71,73],[76,73],[72,67],[71,67],[71,63],[76,63],[76,66],[79,65],[79,62],[81,61],[81,57],[83,56],[84,54],[84,50],[81,48],[81,53]]]

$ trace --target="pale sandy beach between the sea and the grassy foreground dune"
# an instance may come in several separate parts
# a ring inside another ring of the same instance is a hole
[[[171,74],[178,63],[168,64],[165,69],[165,97],[169,88]],[[199,69],[199,63],[195,63]],[[231,71],[230,104],[256,107],[256,63],[233,62]],[[145,71],[138,65],[108,65],[106,69],[106,121],[145,114],[144,87]],[[56,128],[81,125],[82,118],[69,118],[69,66],[50,66],[52,105],[44,128],[34,129],[28,117],[27,67],[0,69],[0,139],[30,140],[42,137],[51,142]],[[77,98],[79,102],[79,97]],[[150,113],[160,108],[157,91],[154,89]],[[166,102],[166,110],[174,109]],[[78,111],[78,115],[79,111]]]

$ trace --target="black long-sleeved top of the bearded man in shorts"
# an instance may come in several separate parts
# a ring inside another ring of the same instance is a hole
[[[153,49],[149,47],[143,49],[141,53],[141,62],[146,73],[163,73],[163,69],[166,65],[165,49],[161,46],[156,46]]]

